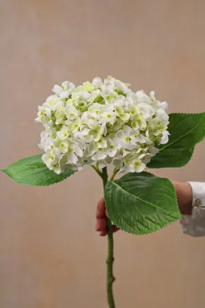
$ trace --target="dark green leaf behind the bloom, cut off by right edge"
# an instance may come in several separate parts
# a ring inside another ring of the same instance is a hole
[[[202,114],[169,114],[169,142],[159,146],[159,153],[148,168],[185,166],[193,155],[195,144],[205,138],[205,112]]]

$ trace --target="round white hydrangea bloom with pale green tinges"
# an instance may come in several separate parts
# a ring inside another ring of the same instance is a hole
[[[167,103],[133,92],[129,84],[95,77],[77,88],[69,81],[53,87],[54,95],[38,107],[42,123],[42,160],[57,174],[81,170],[83,162],[120,172],[141,172],[158,149],[168,142]]]

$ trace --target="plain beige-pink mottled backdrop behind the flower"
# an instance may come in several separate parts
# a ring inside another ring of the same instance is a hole
[[[0,168],[40,152],[37,106],[64,80],[113,75],[156,90],[171,112],[203,112],[204,14],[198,0],[1,0]],[[202,181],[204,150],[156,174]],[[107,307],[94,170],[48,188],[0,180],[0,307]],[[205,239],[183,235],[178,222],[147,236],[118,232],[117,307],[204,308],[204,258]]]

